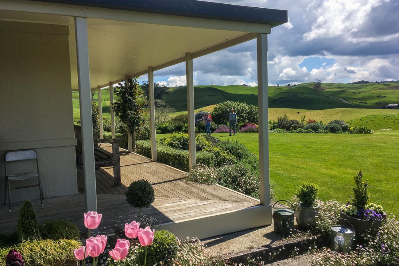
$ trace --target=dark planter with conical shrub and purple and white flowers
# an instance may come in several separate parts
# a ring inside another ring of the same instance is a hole
[[[358,240],[364,242],[365,235],[377,231],[383,221],[387,219],[387,214],[381,205],[369,202],[369,183],[367,180],[363,180],[362,170],[356,174],[354,180],[354,195],[349,196],[352,203],[348,201],[346,205],[342,206],[340,217],[352,223]]]

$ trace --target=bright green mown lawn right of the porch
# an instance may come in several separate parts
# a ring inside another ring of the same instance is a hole
[[[168,134],[158,134],[157,138]],[[258,134],[213,134],[233,139],[258,154]],[[270,134],[270,176],[278,199],[289,199],[308,181],[320,186],[322,199],[348,201],[359,169],[369,180],[371,201],[399,215],[399,132],[383,134]]]

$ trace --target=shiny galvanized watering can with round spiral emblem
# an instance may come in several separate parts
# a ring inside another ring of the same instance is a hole
[[[346,221],[350,227],[345,225],[333,225],[336,221]],[[350,253],[354,244],[355,228],[346,219],[338,218],[331,223],[331,250],[342,253]]]

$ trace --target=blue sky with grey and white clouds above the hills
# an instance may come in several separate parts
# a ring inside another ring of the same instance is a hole
[[[399,0],[209,0],[288,10],[269,35],[269,85],[399,79]],[[155,73],[186,85],[184,63]],[[194,59],[194,85],[257,85],[256,42]],[[144,81],[146,77],[140,77]]]

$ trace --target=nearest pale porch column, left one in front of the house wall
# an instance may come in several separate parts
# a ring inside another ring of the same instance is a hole
[[[93,121],[87,19],[75,17],[79,107],[82,130],[83,174],[85,176],[86,211],[97,211],[96,173],[94,166]]]

